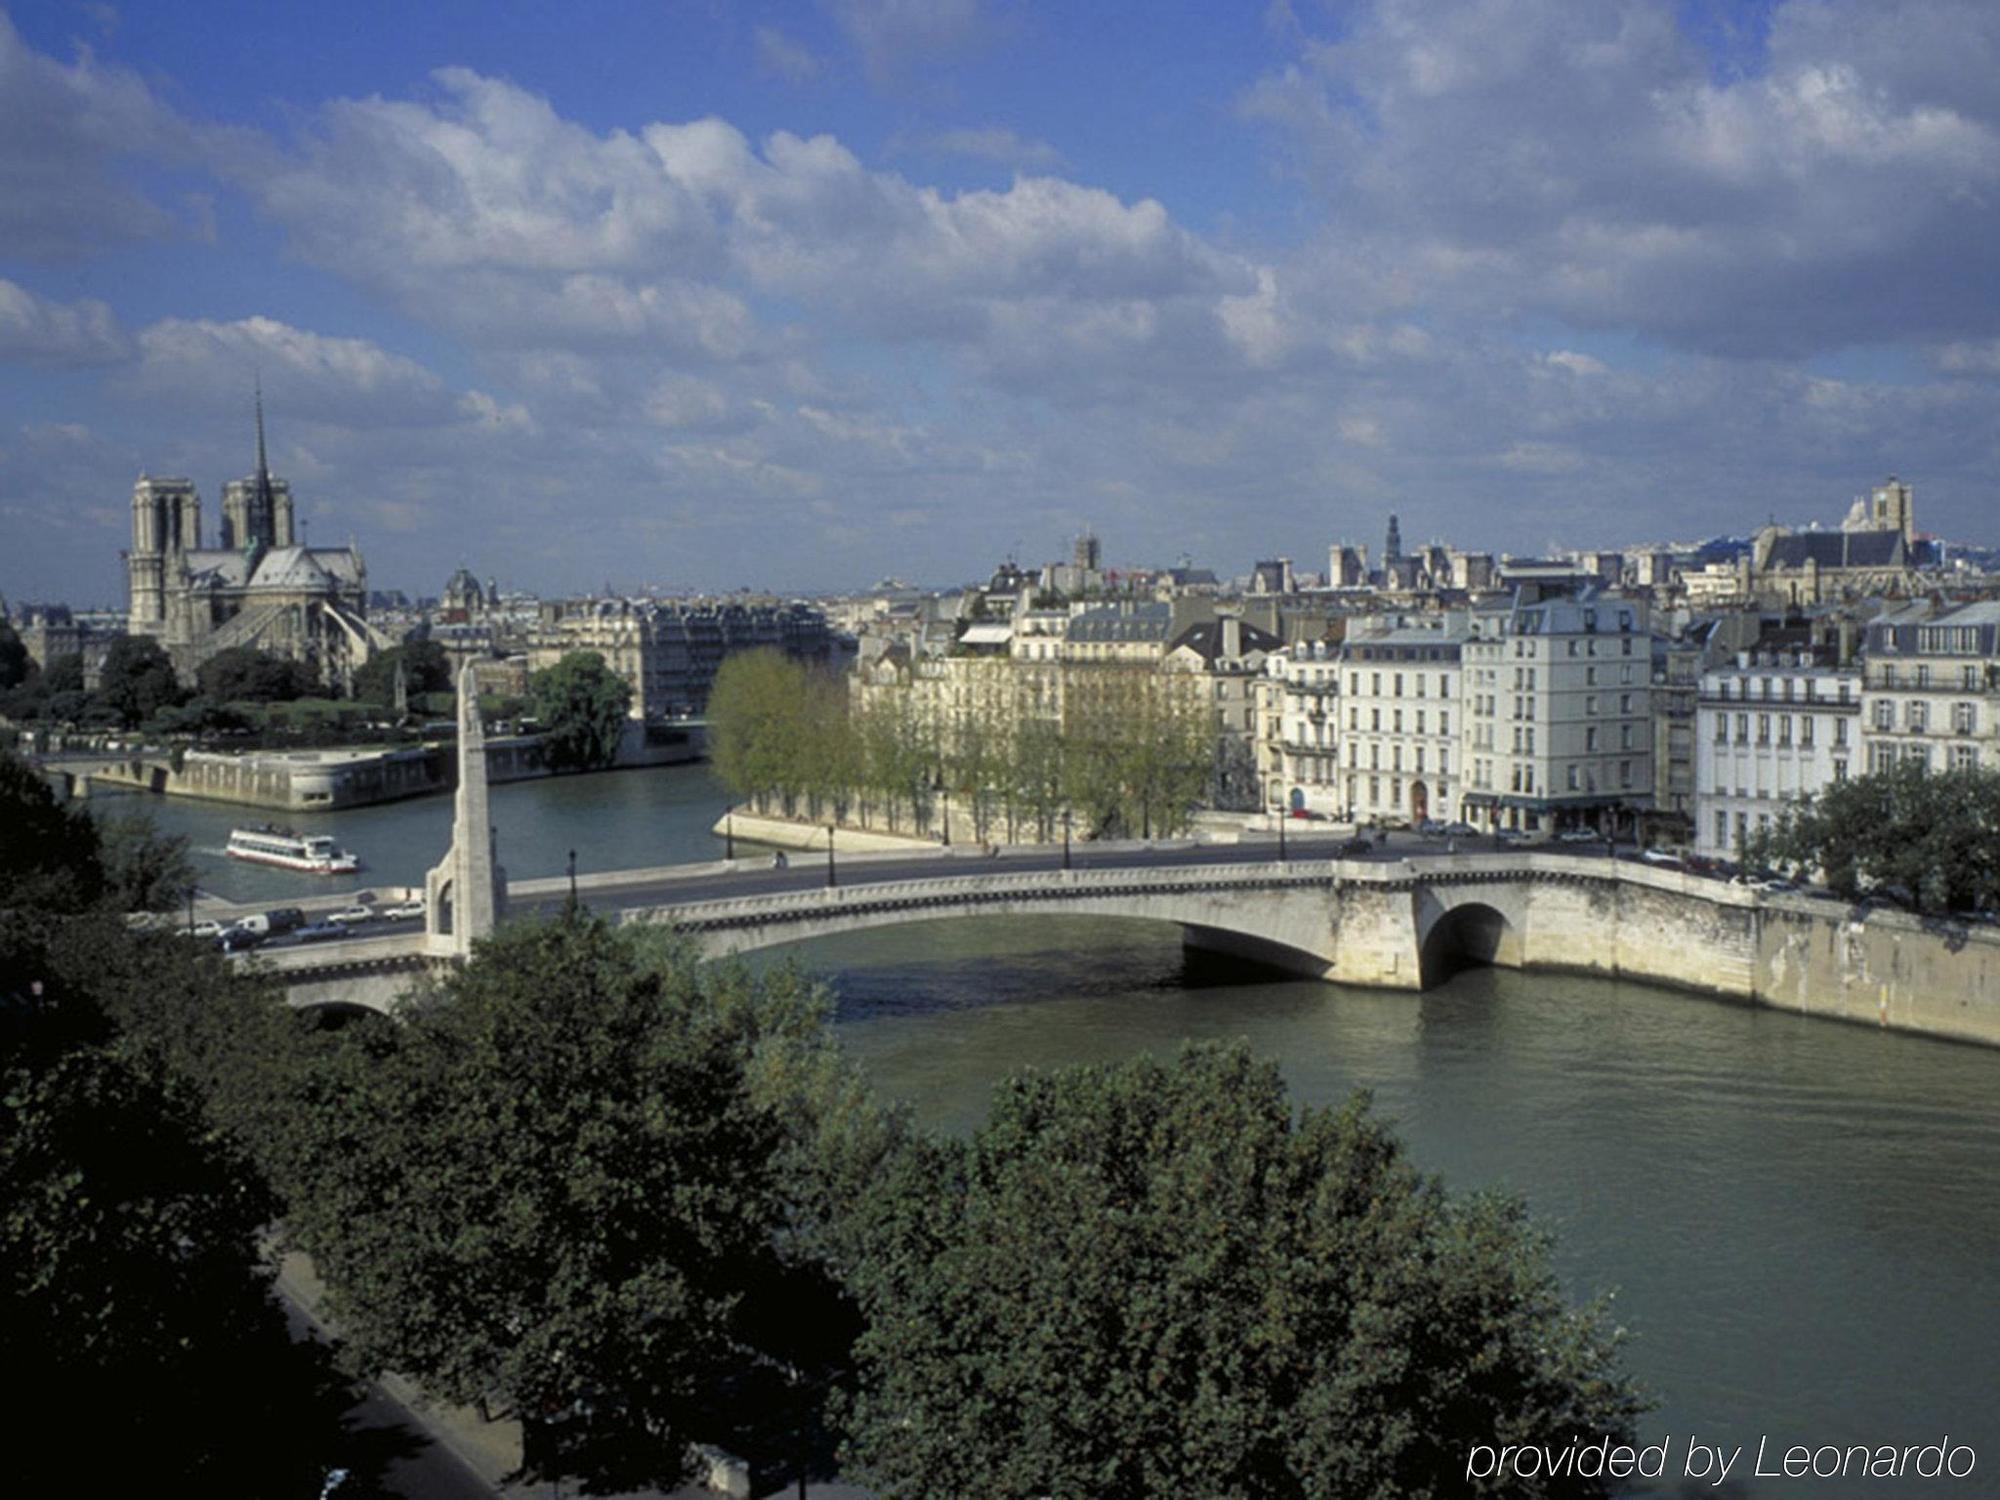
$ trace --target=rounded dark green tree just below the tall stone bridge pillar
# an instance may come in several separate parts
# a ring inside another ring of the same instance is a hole
[[[822,1002],[664,934],[502,928],[302,1090],[288,1232],[362,1362],[516,1412],[530,1472],[674,1480],[834,1326],[760,1326],[812,1282],[794,1170],[848,1160],[800,1144],[816,1046]]]

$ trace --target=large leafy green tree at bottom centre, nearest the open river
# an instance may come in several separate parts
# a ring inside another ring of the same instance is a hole
[[[1640,1410],[1518,1204],[1366,1100],[1294,1120],[1242,1048],[1014,1078],[872,1214],[850,1472],[884,1500],[1496,1494],[1466,1444]],[[1506,1480],[1558,1490],[1598,1492]]]

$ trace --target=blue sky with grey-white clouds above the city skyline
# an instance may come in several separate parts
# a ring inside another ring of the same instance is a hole
[[[0,594],[1994,542],[1996,244],[1992,0],[12,4]]]

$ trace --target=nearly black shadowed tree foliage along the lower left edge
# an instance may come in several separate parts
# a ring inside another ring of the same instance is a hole
[[[290,1342],[258,1248],[274,1200],[172,1062],[292,1018],[186,940],[126,930],[96,826],[22,770],[0,758],[0,1326],[32,1370],[8,1478],[316,1496],[352,1398]],[[56,1440],[78,1412],[90,1444]]]

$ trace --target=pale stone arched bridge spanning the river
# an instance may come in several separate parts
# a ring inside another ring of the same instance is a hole
[[[1136,852],[1134,860],[1146,852]],[[1308,978],[1422,990],[1466,964],[1622,974],[1748,996],[1760,904],[1748,892],[1568,854],[1438,854],[1404,860],[1152,864],[1092,870],[976,870],[840,886],[662,900],[676,872],[648,872],[644,896],[596,876],[586,904],[622,922],[688,932],[710,956],[972,916],[1104,916],[1170,922],[1190,948]],[[664,882],[660,878],[666,878]],[[728,866],[684,872],[704,892]],[[554,894],[534,882],[542,896]],[[526,888],[524,888],[526,890]],[[1692,900],[1690,900],[1692,898]],[[270,954],[294,1004],[390,1008],[426,968],[462,956],[436,934],[356,938]]]

